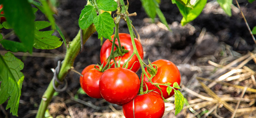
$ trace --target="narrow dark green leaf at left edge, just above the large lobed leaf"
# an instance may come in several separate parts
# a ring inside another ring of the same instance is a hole
[[[24,44],[20,43],[20,42],[3,39],[0,41],[0,43],[6,50],[10,50],[12,52],[18,52],[18,51],[26,52],[27,51]]]

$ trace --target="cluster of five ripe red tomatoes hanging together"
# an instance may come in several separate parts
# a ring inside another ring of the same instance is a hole
[[[112,41],[114,35],[111,36]],[[167,93],[167,86],[159,85],[159,88],[154,83],[172,84],[177,82],[180,85],[181,75],[178,68],[168,60],[157,60],[149,64],[150,69],[145,68],[145,74],[138,77],[135,73],[140,68],[139,59],[134,55],[129,61],[126,68],[122,68],[125,62],[133,53],[131,37],[126,33],[119,33],[121,46],[128,50],[122,56],[114,57],[108,64],[108,58],[111,52],[112,41],[106,40],[100,50],[100,65],[89,65],[82,71],[80,76],[81,88],[93,98],[103,98],[109,103],[122,105],[123,113],[126,118],[134,117],[151,117],[161,118],[164,113],[164,100],[174,94],[174,90],[170,94]],[[115,44],[118,46],[116,40]],[[143,59],[143,49],[138,39],[135,38],[136,48],[139,56]],[[114,48],[116,50],[117,47]],[[120,59],[120,60],[119,60]],[[120,61],[120,62],[118,62]],[[116,67],[119,63],[119,67]],[[111,65],[106,70],[103,70]],[[116,67],[116,68],[115,68]],[[103,68],[103,69],[102,69]],[[154,69],[154,74],[152,74]],[[146,74],[149,78],[147,78]],[[140,81],[143,77],[143,87],[140,87]],[[139,90],[144,91],[144,94],[139,94]]]

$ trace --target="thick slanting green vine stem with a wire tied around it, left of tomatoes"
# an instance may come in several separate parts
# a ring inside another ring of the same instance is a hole
[[[83,44],[87,41],[87,39],[96,31],[95,26],[92,24],[87,29],[83,30]],[[73,39],[72,42],[70,42],[67,52],[65,55],[65,58],[63,60],[61,69],[59,71],[59,74],[57,75],[58,79],[62,81],[64,77],[68,74],[68,72],[73,67],[74,61],[76,56],[78,55],[80,51],[80,31],[78,31],[76,37]],[[58,83],[55,83],[56,87],[58,86]],[[38,108],[36,118],[44,118],[45,111],[49,105],[49,103],[52,100],[53,93],[55,92],[53,88],[53,80],[49,84],[48,88],[44,92],[42,96],[42,100],[40,103],[40,106]]]

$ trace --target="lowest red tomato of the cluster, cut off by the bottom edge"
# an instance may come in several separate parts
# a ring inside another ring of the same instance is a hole
[[[125,118],[161,118],[164,113],[164,101],[161,95],[151,91],[147,94],[138,95],[134,100],[123,104],[123,114]]]

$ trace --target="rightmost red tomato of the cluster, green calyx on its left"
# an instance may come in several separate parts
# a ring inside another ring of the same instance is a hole
[[[180,71],[176,67],[176,65],[173,64],[171,61],[160,59],[160,60],[152,62],[152,64],[155,64],[158,69],[156,75],[151,80],[153,83],[165,84],[165,83],[169,82],[169,83],[173,84],[174,82],[177,82],[179,85],[181,84]],[[147,71],[147,68],[145,68],[145,71],[146,71],[147,75],[149,77],[151,77]],[[143,81],[147,84],[148,90],[156,89],[155,91],[157,91],[159,94],[161,94],[160,90],[156,86],[152,85],[149,82],[146,75],[144,75]],[[145,86],[145,84],[144,84],[144,86]],[[170,85],[170,86],[172,87],[173,85]],[[170,95],[168,95],[168,93],[166,91],[167,86],[160,85],[160,88],[162,88],[163,97],[165,99],[171,97],[174,94],[174,90],[172,90]],[[146,87],[143,87],[143,90],[145,91]],[[178,89],[176,89],[176,90],[178,90]]]

